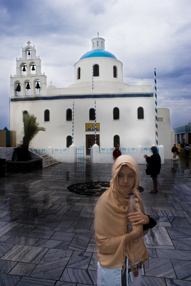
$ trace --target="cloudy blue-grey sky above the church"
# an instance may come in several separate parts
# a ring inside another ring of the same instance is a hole
[[[73,84],[74,63],[91,39],[123,63],[124,83],[157,78],[157,104],[172,128],[191,121],[190,0],[0,0],[0,129],[9,129],[10,74],[21,47],[35,45],[47,85]]]

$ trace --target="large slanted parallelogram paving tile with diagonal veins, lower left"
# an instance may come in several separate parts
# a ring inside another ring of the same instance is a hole
[[[72,251],[70,250],[49,249],[30,277],[59,280],[71,255]]]

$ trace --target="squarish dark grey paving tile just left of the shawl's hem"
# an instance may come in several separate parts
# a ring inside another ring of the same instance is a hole
[[[67,263],[69,268],[88,269],[92,253],[86,251],[74,251]],[[92,269],[91,269],[92,270]],[[93,269],[95,270],[95,269]]]

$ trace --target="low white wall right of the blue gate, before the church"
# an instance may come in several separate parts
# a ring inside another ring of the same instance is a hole
[[[160,145],[159,154],[161,158],[161,164],[164,164],[164,146]],[[137,147],[136,153],[121,153],[122,155],[130,155],[132,156],[137,164],[146,164],[146,159],[144,158],[144,154],[147,156],[151,156],[152,152],[150,152],[150,148],[142,148],[141,146]],[[113,155],[112,153],[99,153],[99,146],[94,144],[91,151],[91,161],[93,164],[113,164]]]

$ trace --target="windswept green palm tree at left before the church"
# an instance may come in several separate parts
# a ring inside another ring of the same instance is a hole
[[[46,131],[46,128],[39,126],[37,117],[34,114],[23,113],[23,140],[17,144],[13,152],[12,161],[27,161],[31,159],[29,144],[39,131]]]

